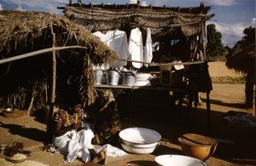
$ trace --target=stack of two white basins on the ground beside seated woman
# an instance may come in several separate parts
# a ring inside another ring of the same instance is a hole
[[[146,128],[128,128],[119,132],[120,143],[126,152],[148,154],[160,145],[161,135]]]

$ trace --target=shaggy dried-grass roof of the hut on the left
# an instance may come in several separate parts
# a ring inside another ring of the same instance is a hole
[[[118,55],[90,31],[64,16],[29,11],[0,11],[0,52],[2,58],[52,47],[51,27],[56,36],[56,47],[80,45],[92,56],[113,63]],[[39,43],[39,44],[38,44]],[[3,54],[4,53],[4,54]]]

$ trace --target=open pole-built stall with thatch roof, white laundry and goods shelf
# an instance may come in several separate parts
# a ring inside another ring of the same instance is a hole
[[[195,96],[204,92],[207,93],[209,119],[212,84],[207,71],[206,21],[214,16],[207,14],[211,7],[204,3],[193,8],[173,8],[139,2],[83,4],[71,1],[59,9],[69,20],[84,26],[119,54],[119,61],[111,66],[103,59],[98,64],[91,64],[95,72],[103,71],[101,77],[104,72],[108,75],[108,82],[96,83],[96,89],[162,87],[174,92],[175,89],[186,89],[186,93],[191,94],[189,107],[192,100],[196,100]],[[109,79],[109,75],[116,78],[113,71],[122,76],[130,72],[130,76],[134,74],[135,82],[124,83],[124,77],[121,77],[113,83]],[[143,78],[137,78],[145,73]],[[156,79],[149,80],[148,73]]]

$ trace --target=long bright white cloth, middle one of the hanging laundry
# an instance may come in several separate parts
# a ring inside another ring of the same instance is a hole
[[[143,36],[138,28],[131,30],[131,36],[128,43],[129,52],[131,54],[130,60],[143,61]],[[141,68],[142,63],[132,62],[132,66]]]

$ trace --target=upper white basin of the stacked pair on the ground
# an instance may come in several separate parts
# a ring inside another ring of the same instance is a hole
[[[161,135],[153,129],[128,128],[119,132],[120,142],[135,148],[153,148],[161,140]]]

